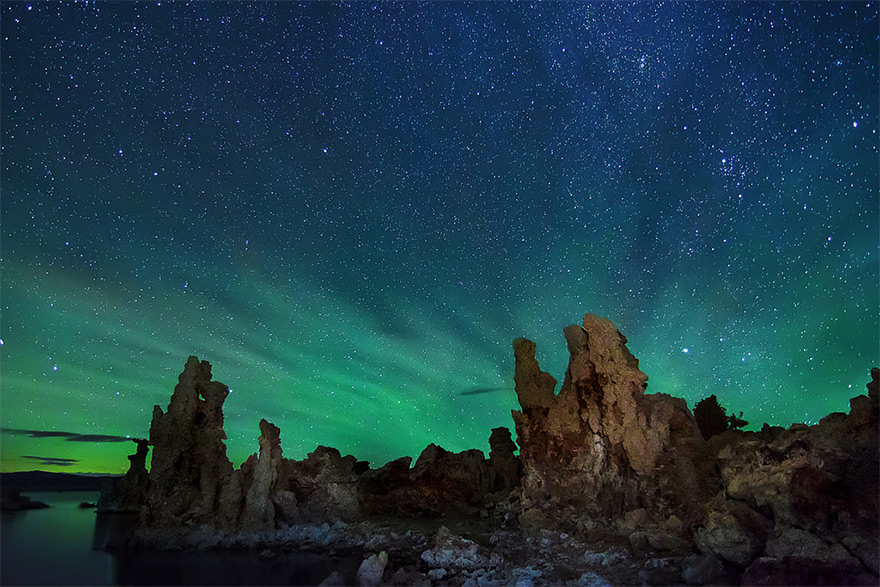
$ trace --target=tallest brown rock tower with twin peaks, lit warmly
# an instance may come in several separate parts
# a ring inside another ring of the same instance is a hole
[[[571,508],[590,520],[634,510],[651,521],[672,514],[687,525],[700,520],[700,502],[717,487],[684,400],[644,394],[648,377],[610,321],[587,314],[583,327],[564,333],[570,359],[558,395],[535,359],[535,343],[513,343],[521,519],[564,523],[559,512]]]

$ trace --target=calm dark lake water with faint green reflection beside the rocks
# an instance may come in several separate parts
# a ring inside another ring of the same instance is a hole
[[[27,492],[50,508],[3,514],[0,584],[10,585],[317,585],[333,571],[354,583],[359,557],[251,551],[111,554],[93,549],[97,515],[81,509],[97,493]],[[103,534],[103,529],[99,529]]]

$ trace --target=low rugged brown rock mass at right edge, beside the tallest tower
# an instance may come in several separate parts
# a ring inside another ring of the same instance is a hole
[[[848,415],[710,441],[723,492],[697,531],[702,551],[748,567],[749,584],[811,584],[810,572],[821,581],[877,583],[880,371],[871,376],[868,395],[850,400]]]

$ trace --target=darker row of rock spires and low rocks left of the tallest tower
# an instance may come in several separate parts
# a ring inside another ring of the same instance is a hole
[[[129,457],[129,472],[102,493],[99,511],[137,512],[144,528],[261,532],[379,515],[478,514],[506,503],[519,485],[516,445],[506,428],[492,431],[488,458],[432,444],[414,466],[403,457],[370,469],[324,446],[306,459],[286,459],[280,429],[262,420],[259,452],[236,469],[224,443],[228,393],[212,380],[207,361],[190,357],[167,410],[155,407],[149,440]]]

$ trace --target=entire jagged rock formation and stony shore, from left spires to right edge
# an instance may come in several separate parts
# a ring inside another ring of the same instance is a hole
[[[497,428],[488,458],[430,445],[378,469],[328,447],[286,459],[266,420],[259,452],[234,468],[228,389],[190,357],[99,509],[137,512],[136,539],[154,546],[358,545],[371,585],[878,583],[880,371],[849,414],[706,440],[684,400],[645,394],[610,321],[587,314],[564,334],[558,394],[535,344],[514,341],[516,444]],[[396,542],[364,537],[377,521],[441,517],[469,520],[470,537],[440,528],[430,543],[406,522]]]

